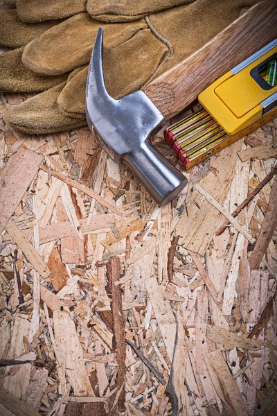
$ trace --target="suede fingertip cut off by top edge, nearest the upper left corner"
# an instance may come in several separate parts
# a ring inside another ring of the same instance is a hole
[[[64,19],[86,11],[87,0],[17,0],[17,12],[22,21],[30,23]]]

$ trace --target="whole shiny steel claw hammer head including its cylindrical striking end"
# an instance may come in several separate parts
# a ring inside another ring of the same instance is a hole
[[[163,125],[163,114],[140,90],[119,100],[109,96],[102,73],[102,36],[100,28],[87,77],[87,123],[111,159],[127,164],[154,200],[166,205],[187,180],[150,142]]]

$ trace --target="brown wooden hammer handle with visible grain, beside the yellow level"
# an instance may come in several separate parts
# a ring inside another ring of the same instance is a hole
[[[276,0],[262,0],[143,91],[169,119],[208,85],[277,36]]]

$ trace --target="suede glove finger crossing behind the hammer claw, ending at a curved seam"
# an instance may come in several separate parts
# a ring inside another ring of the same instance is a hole
[[[109,94],[118,99],[141,88],[167,52],[166,45],[150,29],[139,31],[127,42],[107,51],[103,56],[103,71]],[[57,98],[57,103],[68,116],[85,115],[87,73],[88,67],[78,73]]]

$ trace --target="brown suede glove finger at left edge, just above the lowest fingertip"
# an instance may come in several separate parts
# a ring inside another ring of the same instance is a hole
[[[41,76],[22,63],[24,47],[0,55],[0,90],[2,92],[38,92],[66,80],[68,73],[59,76]]]

